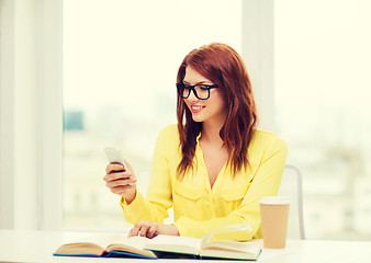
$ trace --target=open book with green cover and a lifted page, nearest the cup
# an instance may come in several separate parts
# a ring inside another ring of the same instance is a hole
[[[262,250],[262,240],[246,242],[211,240],[216,233],[252,229],[246,224],[233,225],[215,229],[206,233],[202,239],[160,235],[148,242],[145,249],[156,252],[159,258],[192,255],[194,259],[257,260]]]

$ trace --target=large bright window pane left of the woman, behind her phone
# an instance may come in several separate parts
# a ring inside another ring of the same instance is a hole
[[[145,193],[182,58],[211,42],[240,52],[240,0],[64,1],[65,227],[125,225],[103,148],[122,148]]]

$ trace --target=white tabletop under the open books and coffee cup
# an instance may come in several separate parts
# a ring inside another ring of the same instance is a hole
[[[63,243],[83,238],[91,232],[50,232],[50,231],[15,231],[0,230],[0,262],[214,262],[198,260],[133,260],[99,258],[53,256],[53,252]],[[265,263],[353,263],[371,262],[371,241],[317,241],[289,240],[285,250],[263,251],[258,262]],[[270,252],[270,251],[268,251]],[[273,258],[269,258],[273,255]],[[228,261],[231,262],[231,261]],[[237,261],[234,261],[237,262]]]

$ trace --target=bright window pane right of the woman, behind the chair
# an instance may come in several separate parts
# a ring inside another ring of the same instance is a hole
[[[276,1],[279,133],[310,239],[371,233],[370,1]]]

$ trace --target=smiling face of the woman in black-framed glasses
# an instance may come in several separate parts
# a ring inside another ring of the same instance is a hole
[[[215,84],[191,67],[186,68],[184,84]],[[211,89],[207,100],[198,99],[193,91],[188,99],[184,99],[188,108],[192,113],[194,122],[203,122],[223,125],[227,116],[227,107],[221,88]]]

